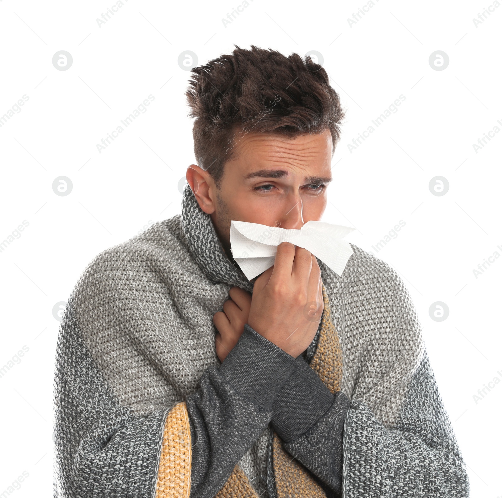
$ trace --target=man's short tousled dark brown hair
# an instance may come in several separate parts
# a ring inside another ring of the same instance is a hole
[[[235,45],[232,55],[193,68],[189,84],[195,158],[218,188],[233,146],[250,131],[294,138],[329,129],[333,152],[340,138],[339,96],[310,56]]]

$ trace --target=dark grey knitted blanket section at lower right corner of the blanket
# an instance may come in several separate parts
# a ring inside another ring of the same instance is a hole
[[[427,351],[392,431],[352,401],[345,421],[342,498],[469,496],[465,464]]]

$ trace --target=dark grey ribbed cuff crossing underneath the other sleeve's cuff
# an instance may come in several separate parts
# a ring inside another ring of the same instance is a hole
[[[299,356],[297,368],[274,401],[272,425],[288,443],[310,429],[331,407],[334,395]]]

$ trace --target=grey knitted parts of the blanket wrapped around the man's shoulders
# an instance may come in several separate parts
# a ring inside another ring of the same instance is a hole
[[[468,496],[409,294],[387,264],[352,248],[341,277],[319,262],[350,400],[342,496]],[[156,495],[166,416],[219,363],[212,317],[231,286],[253,290],[189,186],[181,215],[87,266],[57,345],[56,497]],[[239,462],[262,495],[269,441],[267,428]]]

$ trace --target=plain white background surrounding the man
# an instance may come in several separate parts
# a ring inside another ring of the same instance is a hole
[[[239,0],[129,0],[99,27],[96,18],[113,5],[0,0],[0,116],[29,97],[0,128],[0,241],[29,223],[0,252],[0,366],[29,349],[0,378],[0,493],[25,471],[15,496],[52,495],[54,306],[96,254],[180,212],[178,184],[195,159],[184,96],[190,72],[178,56],[190,50],[203,64],[233,44],[254,44],[322,54],[346,109],[323,220],[356,227],[347,239],[403,277],[471,496],[502,495],[502,383],[473,399],[494,377],[502,380],[502,259],[473,273],[495,251],[502,255],[502,133],[473,148],[502,121],[502,7],[491,7],[476,26],[473,18],[490,0],[380,0],[349,25],[364,0],[249,0],[225,26],[222,18]],[[66,71],[52,64],[62,50],[73,58]],[[429,65],[438,50],[449,56],[441,71]],[[99,153],[96,144],[150,94],[147,111]],[[399,95],[406,99],[398,111],[349,151]],[[59,176],[72,181],[67,196],[53,191]],[[436,176],[449,182],[443,196],[429,190]],[[377,253],[372,246],[400,220],[404,228]],[[441,322],[429,315],[436,301],[449,308]]]

